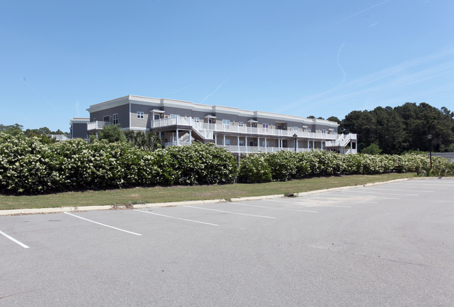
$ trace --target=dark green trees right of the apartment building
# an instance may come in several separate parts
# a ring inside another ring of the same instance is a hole
[[[344,132],[358,134],[358,149],[379,145],[383,153],[429,151],[427,135],[432,134],[433,151],[451,151],[454,143],[454,113],[427,103],[405,103],[399,107],[376,107],[352,111],[342,121]]]

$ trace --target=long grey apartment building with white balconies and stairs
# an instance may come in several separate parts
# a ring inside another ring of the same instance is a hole
[[[106,124],[123,129],[154,131],[164,146],[214,142],[235,154],[332,150],[356,153],[356,135],[337,133],[338,124],[324,119],[202,105],[189,101],[124,96],[91,105],[89,119],[73,119],[71,136],[96,134]],[[346,147],[348,148],[346,150]]]

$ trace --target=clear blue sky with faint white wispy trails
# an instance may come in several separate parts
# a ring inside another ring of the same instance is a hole
[[[126,95],[302,117],[454,109],[454,1],[3,1],[0,123]]]

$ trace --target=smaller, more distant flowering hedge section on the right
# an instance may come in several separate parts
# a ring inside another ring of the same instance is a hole
[[[238,181],[258,183],[287,181],[308,176],[335,174],[381,174],[384,172],[417,172],[420,175],[446,176],[454,174],[454,163],[441,157],[421,154],[402,156],[351,154],[328,151],[295,153],[279,151],[246,156],[240,165]]]

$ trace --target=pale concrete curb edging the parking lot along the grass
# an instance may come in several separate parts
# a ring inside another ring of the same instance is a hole
[[[304,196],[318,193],[326,193],[333,190],[346,190],[350,188],[360,188],[363,186],[378,186],[381,184],[389,184],[397,181],[407,181],[410,179],[439,179],[436,177],[423,177],[423,178],[403,178],[394,179],[390,181],[374,182],[372,184],[360,184],[357,186],[340,186],[339,188],[325,188],[323,190],[312,190],[308,192],[293,193],[293,196]],[[454,179],[454,178],[451,178]],[[190,200],[184,202],[156,202],[149,204],[126,204],[126,205],[103,205],[103,206],[82,206],[82,207],[53,207],[53,208],[40,208],[40,209],[11,209],[11,210],[0,210],[0,216],[17,216],[23,214],[57,214],[62,212],[78,212],[78,211],[94,211],[94,210],[112,210],[112,209],[145,209],[155,207],[175,207],[182,205],[194,205],[194,204],[212,204],[219,202],[244,202],[247,200],[268,200],[272,198],[283,198],[284,194],[277,195],[263,195],[263,196],[251,196],[251,197],[236,197],[230,198],[229,200]]]

